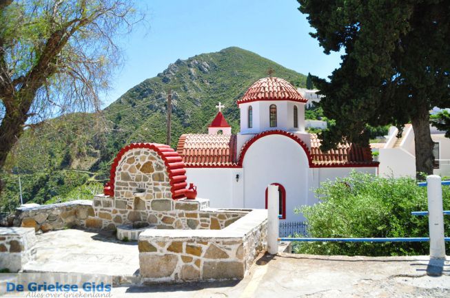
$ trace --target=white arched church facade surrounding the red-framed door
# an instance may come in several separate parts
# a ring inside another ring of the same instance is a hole
[[[264,209],[267,185],[279,183],[286,190],[286,220],[303,220],[294,214],[294,208],[307,204],[310,169],[297,142],[280,135],[260,138],[247,150],[243,169],[245,208]]]

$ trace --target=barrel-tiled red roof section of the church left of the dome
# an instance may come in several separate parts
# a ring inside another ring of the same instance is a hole
[[[186,167],[235,167],[236,136],[183,134],[176,151]]]

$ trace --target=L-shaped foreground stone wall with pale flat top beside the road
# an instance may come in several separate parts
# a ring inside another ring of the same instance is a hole
[[[267,248],[267,211],[254,210],[223,228],[147,230],[139,236],[143,281],[242,279]]]

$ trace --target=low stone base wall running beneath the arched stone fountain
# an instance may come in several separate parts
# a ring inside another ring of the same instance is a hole
[[[205,199],[145,199],[141,193],[135,193],[129,202],[124,204],[108,195],[94,196],[94,217],[88,218],[86,226],[114,230],[122,224],[147,222],[160,229],[220,230],[249,212],[212,209]]]

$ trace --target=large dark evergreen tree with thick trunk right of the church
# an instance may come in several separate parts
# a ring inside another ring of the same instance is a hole
[[[328,118],[324,149],[344,136],[367,145],[367,125],[411,122],[416,170],[433,172],[429,110],[450,106],[450,4],[445,0],[298,0],[324,52],[345,50],[329,81],[313,77]]]

